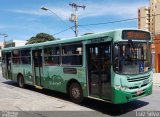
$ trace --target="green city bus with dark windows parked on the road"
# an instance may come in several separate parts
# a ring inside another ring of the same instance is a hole
[[[150,33],[122,29],[2,49],[2,73],[25,84],[122,104],[152,93]]]

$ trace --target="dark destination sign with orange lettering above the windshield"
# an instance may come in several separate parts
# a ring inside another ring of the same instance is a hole
[[[150,33],[139,30],[123,30],[122,39],[127,40],[150,40]]]

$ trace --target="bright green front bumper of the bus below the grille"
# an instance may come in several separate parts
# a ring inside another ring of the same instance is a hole
[[[127,103],[129,101],[138,99],[138,98],[142,98],[145,96],[148,96],[150,94],[152,94],[152,87],[153,87],[153,83],[148,84],[148,87],[143,89],[143,91],[139,92],[125,92],[122,90],[118,90],[116,88],[113,88],[113,98],[112,98],[112,102],[114,104],[122,104],[122,103]]]

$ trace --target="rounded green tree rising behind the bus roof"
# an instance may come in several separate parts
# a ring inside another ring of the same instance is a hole
[[[53,41],[56,38],[54,38],[52,35],[49,35],[47,33],[38,33],[36,36],[31,37],[27,44],[33,44],[33,43],[41,43],[41,42],[45,42],[45,41]]]

